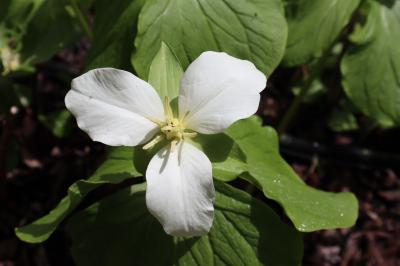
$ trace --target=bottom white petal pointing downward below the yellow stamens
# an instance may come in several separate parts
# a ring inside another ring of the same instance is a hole
[[[206,234],[214,216],[211,162],[193,145],[168,145],[151,159],[146,171],[146,202],[165,232],[174,236]]]

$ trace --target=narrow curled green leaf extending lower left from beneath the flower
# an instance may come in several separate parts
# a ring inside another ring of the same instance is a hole
[[[68,195],[49,214],[31,224],[16,228],[18,238],[29,243],[45,241],[90,191],[106,183],[117,184],[130,177],[141,176],[133,166],[133,156],[132,148],[112,151],[108,160],[89,179],[72,184]]]

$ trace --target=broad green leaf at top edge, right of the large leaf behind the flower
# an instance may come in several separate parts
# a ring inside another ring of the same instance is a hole
[[[321,57],[350,21],[360,0],[285,0],[288,41],[284,64]]]

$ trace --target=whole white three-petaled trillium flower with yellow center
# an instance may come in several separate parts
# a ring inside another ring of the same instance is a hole
[[[113,68],[75,78],[65,104],[95,141],[145,149],[169,141],[146,170],[147,208],[168,234],[199,236],[210,230],[214,216],[212,166],[187,140],[221,133],[253,115],[265,85],[265,75],[251,62],[204,52],[183,74],[177,117],[150,84]]]

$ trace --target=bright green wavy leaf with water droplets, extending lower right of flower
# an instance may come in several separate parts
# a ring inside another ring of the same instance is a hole
[[[279,155],[278,137],[254,118],[241,120],[226,132],[246,155],[248,179],[264,195],[279,202],[300,231],[352,226],[358,203],[348,192],[330,193],[307,186]]]

